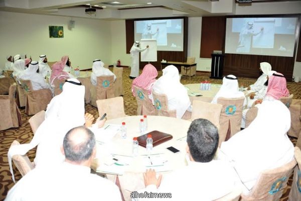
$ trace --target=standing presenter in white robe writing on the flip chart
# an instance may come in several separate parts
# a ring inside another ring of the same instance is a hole
[[[133,46],[130,48],[130,56],[131,56],[131,68],[129,78],[134,79],[139,76],[139,52],[143,52],[148,48],[148,45],[141,49],[140,42],[135,41]]]

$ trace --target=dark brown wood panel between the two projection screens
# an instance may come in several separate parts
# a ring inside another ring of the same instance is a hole
[[[213,50],[224,50],[226,17],[202,17],[201,58],[211,58]]]

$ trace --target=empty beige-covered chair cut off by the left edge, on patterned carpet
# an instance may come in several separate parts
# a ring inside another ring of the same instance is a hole
[[[9,95],[0,95],[0,131],[22,125],[21,113],[16,104],[16,83],[10,86]]]

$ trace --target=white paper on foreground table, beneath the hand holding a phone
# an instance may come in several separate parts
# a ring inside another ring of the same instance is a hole
[[[107,143],[119,132],[120,125],[108,124],[100,129],[91,129],[94,132],[96,141],[99,143]]]

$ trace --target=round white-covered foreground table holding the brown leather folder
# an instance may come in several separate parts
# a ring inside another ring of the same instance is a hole
[[[146,169],[152,168],[157,172],[169,172],[187,165],[185,160],[186,136],[190,121],[163,116],[147,116],[148,128],[144,133],[157,130],[171,134],[173,139],[157,145],[150,154],[147,154],[145,148],[138,146],[138,156],[132,156],[132,139],[140,136],[140,119],[143,119],[143,116],[108,120],[102,129],[94,132],[97,141],[97,159],[94,160],[93,166],[97,167],[96,172],[106,174],[107,178],[113,182],[116,179],[115,175],[119,175],[120,187],[125,200],[130,200],[131,191],[144,187],[142,173]],[[120,131],[115,135],[116,132],[105,131],[110,127],[121,126],[122,122],[125,122],[127,129],[126,139],[121,138]],[[105,137],[101,135],[105,135]],[[108,137],[109,135],[112,135],[111,139]],[[173,153],[166,149],[170,146],[179,149],[180,152]],[[118,161],[108,166],[105,164],[108,158],[116,158]],[[150,165],[148,161],[152,161],[154,166]]]

